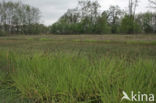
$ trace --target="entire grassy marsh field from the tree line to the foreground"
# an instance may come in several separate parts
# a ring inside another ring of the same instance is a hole
[[[156,35],[0,37],[0,103],[119,103],[123,91],[156,94]]]

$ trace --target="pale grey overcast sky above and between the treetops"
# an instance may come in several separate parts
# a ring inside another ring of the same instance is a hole
[[[62,16],[67,9],[74,8],[78,0],[4,0],[4,1],[22,1],[23,3],[37,7],[41,11],[41,23],[51,25]],[[128,0],[98,0],[101,5],[101,11],[109,8],[110,5],[119,5],[121,9],[127,10]],[[148,0],[139,0],[137,12],[145,12],[149,9]]]

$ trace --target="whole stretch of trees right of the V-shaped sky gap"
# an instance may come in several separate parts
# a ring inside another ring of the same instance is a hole
[[[106,33],[155,33],[156,14],[136,14],[138,0],[129,0],[129,11],[119,6],[110,6],[99,12],[97,1],[81,0],[77,7],[67,12],[53,25],[50,33],[55,34],[106,34]]]

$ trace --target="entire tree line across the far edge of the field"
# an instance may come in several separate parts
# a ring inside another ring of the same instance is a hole
[[[149,0],[156,10],[156,0]],[[51,26],[40,23],[38,8],[21,2],[0,2],[2,34],[136,34],[156,33],[156,12],[136,14],[138,0],[129,0],[128,11],[110,6],[100,11],[97,0],[80,0]]]

